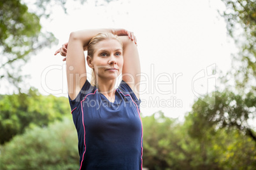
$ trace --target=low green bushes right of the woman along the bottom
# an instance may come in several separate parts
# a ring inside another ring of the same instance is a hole
[[[162,112],[143,117],[143,166],[157,169],[253,169],[256,150],[253,140],[236,129],[194,129],[195,115],[183,124]],[[202,115],[197,114],[197,119]],[[191,135],[197,132],[200,138]]]

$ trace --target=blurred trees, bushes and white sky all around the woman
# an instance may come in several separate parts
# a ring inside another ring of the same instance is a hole
[[[144,167],[255,169],[255,24],[255,0],[1,0],[0,169],[79,168],[53,54],[97,28],[138,39]]]

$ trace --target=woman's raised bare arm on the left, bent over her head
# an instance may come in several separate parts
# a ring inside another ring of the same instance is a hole
[[[87,80],[85,55],[90,39],[100,32],[111,32],[111,29],[79,30],[71,32],[66,55],[68,94],[74,100]]]

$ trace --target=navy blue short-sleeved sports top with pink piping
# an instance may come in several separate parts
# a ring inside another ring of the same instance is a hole
[[[80,169],[142,169],[141,100],[125,81],[115,90],[114,102],[86,81],[69,103],[78,133]]]

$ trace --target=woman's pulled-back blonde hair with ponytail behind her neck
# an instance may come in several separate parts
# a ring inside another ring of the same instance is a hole
[[[92,39],[90,39],[90,42],[89,42],[89,44],[87,46],[87,50],[88,50],[87,51],[87,55],[89,55],[90,58],[93,58],[94,53],[96,51],[96,48],[95,48],[96,44],[98,42],[104,41],[106,39],[115,39],[115,40],[117,40],[121,44],[121,46],[123,48],[122,41],[121,41],[121,39],[117,35],[113,35],[110,32],[103,32],[103,33],[97,34]],[[92,78],[90,80],[90,84],[92,84],[92,86],[96,86],[96,77],[95,77],[95,73],[94,73],[93,69],[92,69],[91,74],[92,74]]]

